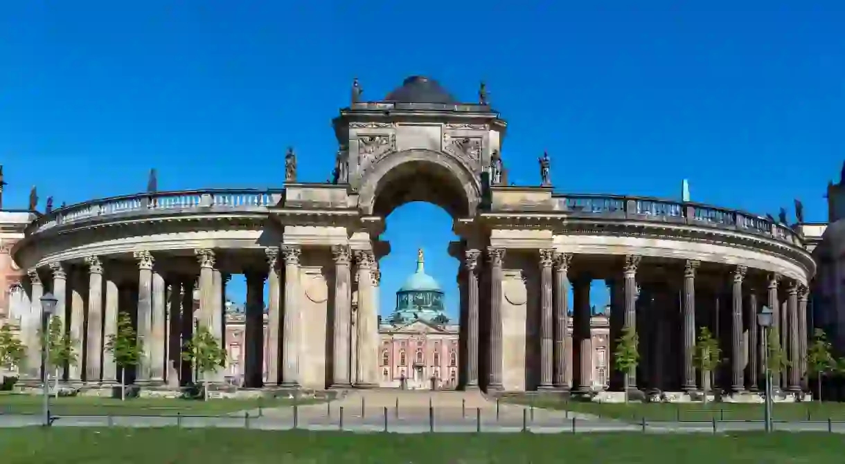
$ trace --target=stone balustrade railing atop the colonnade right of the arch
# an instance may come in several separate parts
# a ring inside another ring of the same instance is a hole
[[[790,245],[804,246],[804,237],[787,224],[780,224],[744,211],[649,197],[556,194],[553,198],[555,211],[575,217],[639,219],[712,226],[763,235]]]

